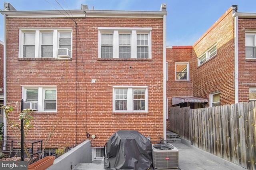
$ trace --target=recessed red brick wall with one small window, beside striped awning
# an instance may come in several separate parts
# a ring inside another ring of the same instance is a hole
[[[166,97],[168,97],[168,108],[172,107],[172,97],[193,95],[193,73],[192,73],[192,46],[171,46],[166,48],[166,61],[168,62],[168,81],[166,82]],[[189,81],[176,81],[175,63],[189,63]],[[169,117],[170,117],[170,113]],[[170,120],[167,120],[166,129],[170,129]]]

